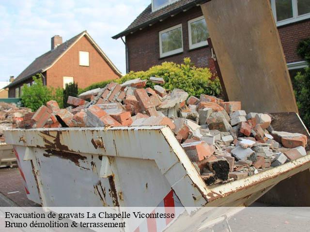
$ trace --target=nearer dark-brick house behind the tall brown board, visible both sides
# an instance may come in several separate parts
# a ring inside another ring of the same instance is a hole
[[[181,63],[186,57],[198,67],[209,67],[209,33],[200,7],[207,0],[150,1],[127,29],[112,37],[125,37],[126,72],[164,61]],[[271,7],[289,71],[296,73],[307,65],[296,49],[300,40],[310,37],[310,1],[271,0]]]

